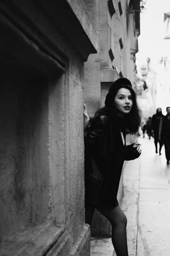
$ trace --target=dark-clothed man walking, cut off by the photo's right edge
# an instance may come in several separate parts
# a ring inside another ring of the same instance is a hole
[[[163,138],[163,143],[165,146],[165,156],[167,160],[167,164],[170,161],[170,107],[166,108],[167,114],[163,116],[160,121],[159,126],[159,141],[161,140],[161,136]]]

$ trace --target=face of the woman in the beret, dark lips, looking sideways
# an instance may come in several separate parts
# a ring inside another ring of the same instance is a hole
[[[114,100],[114,106],[120,117],[124,117],[132,109],[133,101],[132,94],[126,88],[119,89]]]

